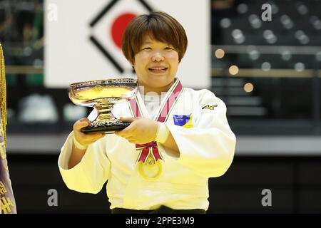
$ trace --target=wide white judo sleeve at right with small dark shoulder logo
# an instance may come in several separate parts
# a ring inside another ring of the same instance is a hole
[[[226,118],[226,105],[209,90],[200,90],[194,102],[199,102],[199,115],[193,128],[165,124],[180,151],[177,162],[199,175],[219,177],[230,167],[236,143]]]

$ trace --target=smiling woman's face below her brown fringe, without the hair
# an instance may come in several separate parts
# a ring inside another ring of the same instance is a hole
[[[178,52],[173,46],[146,35],[132,65],[140,86],[159,90],[173,83],[178,63]]]

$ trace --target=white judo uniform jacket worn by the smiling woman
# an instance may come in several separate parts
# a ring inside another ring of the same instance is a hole
[[[161,106],[172,97],[178,79],[163,96]],[[136,102],[144,118],[151,118],[140,93]],[[158,115],[157,114],[157,115]],[[117,135],[106,135],[89,145],[81,162],[68,170],[73,145],[71,133],[58,158],[63,181],[71,190],[100,192],[104,183],[111,209],[208,209],[208,178],[223,175],[230,167],[235,151],[235,135],[228,125],[226,106],[209,90],[182,88],[168,109],[165,125],[178,145],[180,157],[157,143],[161,155],[161,175],[146,180],[138,172],[136,145]],[[88,117],[93,119],[95,113]],[[122,100],[113,115],[134,117],[133,108]],[[157,120],[157,115],[155,120]]]

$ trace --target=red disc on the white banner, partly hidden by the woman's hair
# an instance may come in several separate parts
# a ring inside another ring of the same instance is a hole
[[[115,21],[113,21],[113,25],[111,26],[111,37],[113,38],[113,42],[121,48],[121,41],[123,38],[123,32],[125,31],[126,26],[131,20],[136,17],[136,14],[126,13],[118,16]]]

